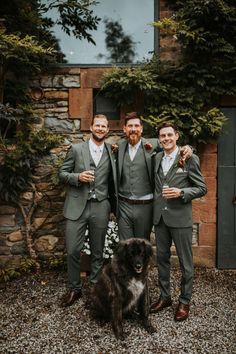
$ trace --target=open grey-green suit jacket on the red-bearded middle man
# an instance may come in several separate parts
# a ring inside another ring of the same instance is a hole
[[[154,188],[154,180],[153,180],[153,158],[157,154],[157,152],[161,151],[162,148],[160,147],[159,141],[157,139],[144,139],[141,138],[141,144],[142,148],[144,151],[144,156],[145,156],[145,162],[146,162],[146,168],[148,171],[148,175],[150,178],[150,183],[152,187]],[[123,168],[123,160],[124,160],[124,155],[125,151],[127,148],[128,142],[127,139],[121,139],[118,142],[118,188],[119,188],[119,182],[121,180],[122,176],[122,168]]]

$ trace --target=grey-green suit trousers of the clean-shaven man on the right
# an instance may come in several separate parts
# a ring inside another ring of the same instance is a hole
[[[174,241],[179,259],[181,277],[181,293],[179,301],[188,304],[193,287],[193,256],[192,256],[192,227],[173,228],[167,226],[161,218],[155,225],[157,245],[157,267],[159,273],[160,297],[170,297],[170,257],[171,244]]]

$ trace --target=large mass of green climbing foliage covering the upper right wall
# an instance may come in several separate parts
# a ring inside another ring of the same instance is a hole
[[[139,67],[114,68],[102,90],[119,106],[144,99],[143,120],[152,127],[174,122],[182,140],[215,142],[227,121],[220,98],[236,95],[236,9],[233,0],[168,0],[170,18],[155,22],[176,41],[176,60],[153,57]]]

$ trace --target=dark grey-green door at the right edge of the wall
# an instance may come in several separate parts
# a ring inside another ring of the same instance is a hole
[[[218,143],[217,267],[236,269],[236,107],[222,112],[228,122]]]

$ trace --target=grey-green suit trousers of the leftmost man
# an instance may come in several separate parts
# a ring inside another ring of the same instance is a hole
[[[96,278],[103,266],[103,248],[110,215],[108,199],[101,202],[88,201],[82,215],[77,220],[66,222],[66,249],[68,286],[74,291],[81,289],[80,252],[85,241],[85,232],[89,230],[89,244],[91,250],[91,273],[89,280],[96,282]]]

